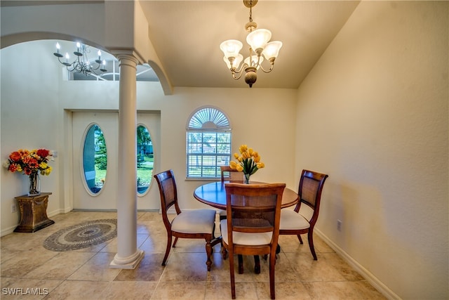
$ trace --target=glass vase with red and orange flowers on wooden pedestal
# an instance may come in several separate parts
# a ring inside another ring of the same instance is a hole
[[[11,172],[23,172],[28,175],[29,188],[28,195],[34,196],[41,193],[39,174],[50,175],[51,167],[48,166],[48,160],[53,154],[50,150],[26,150],[20,149],[11,154],[6,161],[5,167]]]

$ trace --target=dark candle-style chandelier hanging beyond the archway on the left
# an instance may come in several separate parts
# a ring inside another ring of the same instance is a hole
[[[107,72],[106,70],[106,60],[101,60],[101,51],[98,50],[98,59],[94,60],[96,65],[92,65],[91,61],[88,59],[87,53],[90,53],[89,46],[86,46],[81,43],[76,43],[76,51],[74,51],[75,60],[72,63],[69,63],[69,53],[65,53],[65,61],[61,61],[61,58],[64,57],[60,53],[60,44],[56,43],[56,52],[53,53],[59,60],[62,65],[67,67],[69,72],[83,73],[86,76],[89,74],[95,74],[97,76],[102,76],[103,72]],[[98,70],[101,72],[98,72]]]

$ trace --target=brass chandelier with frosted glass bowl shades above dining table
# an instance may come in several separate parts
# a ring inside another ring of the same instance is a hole
[[[234,79],[240,79],[243,71],[245,71],[245,82],[250,87],[253,86],[257,80],[257,70],[262,70],[265,73],[272,72],[274,67],[274,60],[279,54],[279,49],[282,46],[281,41],[271,41],[272,32],[264,29],[257,29],[257,24],[253,22],[252,13],[253,6],[257,4],[257,0],[243,0],[243,4],[250,8],[249,22],[246,23],[245,29],[248,33],[246,42],[250,45],[250,55],[243,60],[243,56],[239,53],[243,44],[236,39],[229,39],[220,44],[220,49],[225,53],[225,63],[229,70],[231,70]],[[264,58],[270,63],[268,70],[262,67]],[[243,60],[243,65],[240,63]]]

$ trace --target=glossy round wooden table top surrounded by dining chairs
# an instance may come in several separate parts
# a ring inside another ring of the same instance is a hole
[[[200,185],[194,191],[194,197],[199,202],[208,204],[211,207],[226,210],[225,183],[229,183],[229,181],[225,182],[217,181]],[[260,184],[260,182],[257,183]],[[296,192],[290,190],[290,188],[285,188],[283,190],[282,204],[281,204],[282,208],[295,205],[297,204],[297,201],[298,195]]]

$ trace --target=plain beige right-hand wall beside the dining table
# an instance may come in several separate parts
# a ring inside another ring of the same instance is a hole
[[[401,299],[448,298],[448,15],[362,1],[298,91],[296,171],[330,175],[319,231]]]

